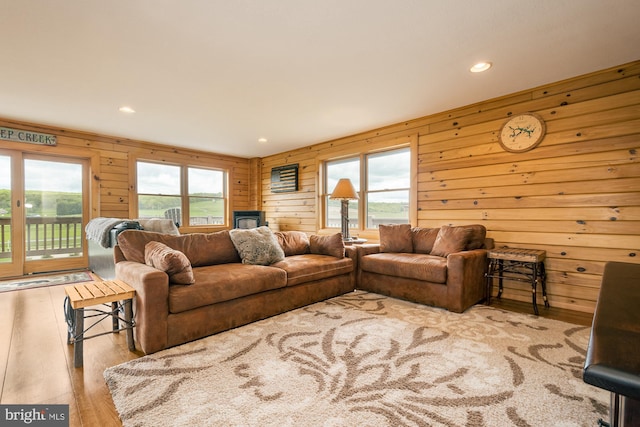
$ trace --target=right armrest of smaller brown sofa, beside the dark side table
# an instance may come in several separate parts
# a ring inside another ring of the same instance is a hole
[[[462,313],[485,298],[487,250],[456,252],[447,257],[449,310]]]

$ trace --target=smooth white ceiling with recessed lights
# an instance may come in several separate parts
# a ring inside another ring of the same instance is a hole
[[[0,0],[0,117],[241,157],[638,59],[638,0]]]

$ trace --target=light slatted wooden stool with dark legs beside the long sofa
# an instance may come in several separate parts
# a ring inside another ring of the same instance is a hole
[[[80,368],[83,365],[82,343],[84,340],[94,338],[109,333],[127,331],[127,344],[129,350],[135,350],[133,341],[133,320],[132,299],[135,296],[135,289],[121,280],[107,280],[78,283],[65,286],[64,292],[67,295],[64,300],[65,318],[67,321],[67,344],[73,344],[73,365]],[[111,311],[99,309],[87,309],[100,304],[111,303]],[[86,318],[99,317],[92,325],[85,329],[85,311],[92,312]],[[120,316],[124,313],[124,318]],[[102,320],[111,316],[113,320],[113,330],[100,334],[87,336],[86,333]],[[121,327],[122,323],[122,327]]]

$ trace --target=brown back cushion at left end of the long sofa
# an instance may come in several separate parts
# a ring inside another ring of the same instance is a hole
[[[118,235],[118,247],[128,261],[144,264],[144,247],[161,242],[189,258],[192,267],[240,262],[227,230],[215,233],[191,233],[179,236],[153,231],[127,230]]]

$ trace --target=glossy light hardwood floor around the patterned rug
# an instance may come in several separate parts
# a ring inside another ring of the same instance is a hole
[[[110,366],[140,357],[126,333],[84,343],[84,367],[73,367],[63,312],[64,286],[0,293],[0,403],[68,404],[70,426],[121,426],[102,376]],[[531,304],[492,300],[492,306],[532,314]],[[540,315],[591,325],[591,315],[540,307]],[[86,324],[85,324],[86,325]],[[92,333],[108,331],[109,319]]]

